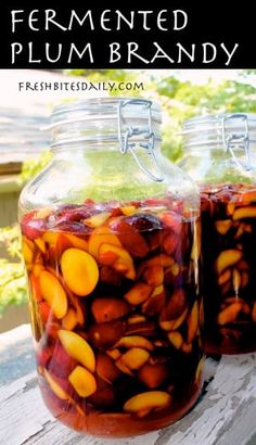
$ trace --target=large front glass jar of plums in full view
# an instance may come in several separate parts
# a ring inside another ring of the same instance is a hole
[[[20,199],[41,393],[85,433],[167,425],[202,387],[199,191],[159,126],[146,100],[56,107],[52,162]]]

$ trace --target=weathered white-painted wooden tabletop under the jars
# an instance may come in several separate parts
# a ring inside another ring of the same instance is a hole
[[[44,407],[23,325],[0,335],[0,445],[256,445],[256,354],[207,358],[205,379],[196,406],[169,428],[124,440],[82,436]]]

